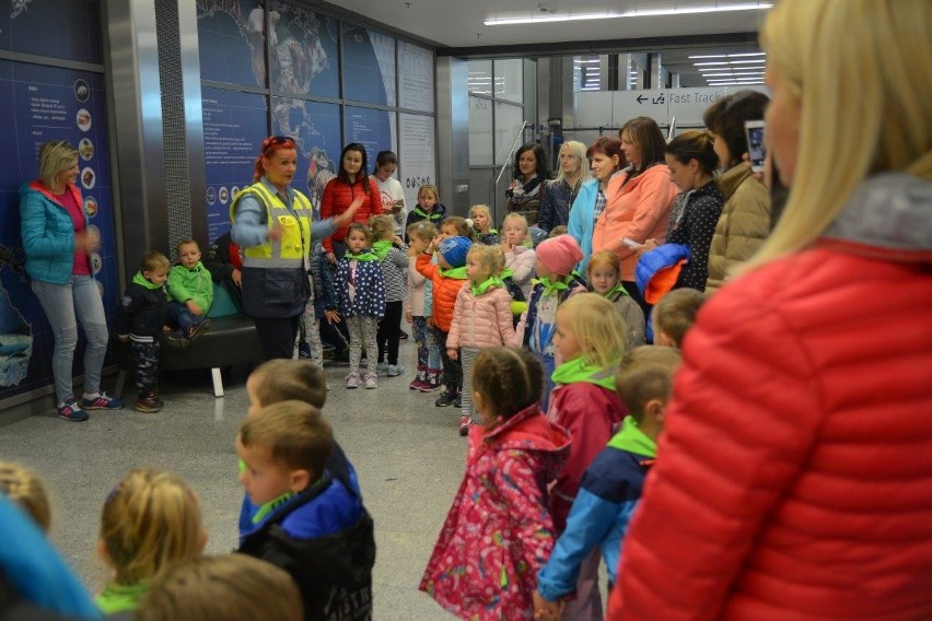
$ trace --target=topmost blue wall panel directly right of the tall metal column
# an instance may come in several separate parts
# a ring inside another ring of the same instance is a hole
[[[197,0],[200,75],[266,85],[266,22],[259,0]]]

